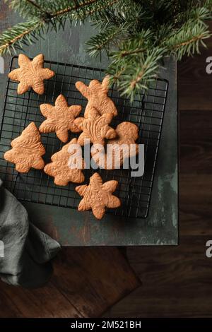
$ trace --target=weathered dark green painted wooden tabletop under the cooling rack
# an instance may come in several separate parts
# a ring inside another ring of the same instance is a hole
[[[3,6],[3,5],[1,5]],[[18,18],[6,11],[0,30],[16,23]],[[93,33],[89,23],[75,28],[66,26],[65,32],[49,32],[45,40],[25,47],[29,57],[39,53],[45,59],[70,64],[105,68],[107,59],[93,61],[85,51],[85,42]],[[5,57],[6,73],[9,57]],[[24,203],[33,222],[64,246],[128,246],[165,245],[178,243],[178,167],[177,167],[177,67],[167,60],[160,73],[169,81],[169,91],[151,207],[146,219],[120,218],[111,214],[101,221],[92,213],[79,213],[69,208]],[[0,74],[0,107],[3,108],[6,73]]]

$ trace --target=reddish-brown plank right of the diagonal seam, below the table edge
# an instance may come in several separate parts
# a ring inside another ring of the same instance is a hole
[[[104,247],[63,248],[52,283],[89,317],[100,316],[141,285],[119,249]]]

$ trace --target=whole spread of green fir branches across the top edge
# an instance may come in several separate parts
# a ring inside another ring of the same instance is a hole
[[[106,51],[107,70],[122,93],[133,98],[148,87],[160,60],[199,52],[211,36],[212,0],[5,0],[28,19],[0,36],[0,54],[21,48],[66,20],[92,20],[98,34],[88,41],[93,57]]]

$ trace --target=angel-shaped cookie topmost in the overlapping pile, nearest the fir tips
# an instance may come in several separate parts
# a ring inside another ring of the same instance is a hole
[[[110,113],[113,116],[118,114],[117,107],[115,107],[114,102],[107,95],[109,91],[109,81],[109,76],[105,76],[102,83],[97,80],[92,80],[88,86],[83,82],[76,82],[76,88],[88,99],[84,117],[88,117],[90,109],[93,107],[95,107],[100,114]]]

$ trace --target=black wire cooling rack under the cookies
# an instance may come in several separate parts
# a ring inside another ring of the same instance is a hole
[[[16,172],[14,165],[6,162],[3,157],[4,152],[11,148],[13,138],[19,136],[31,121],[40,126],[45,119],[40,112],[40,104],[44,102],[54,104],[57,96],[62,93],[69,105],[82,105],[84,110],[87,101],[76,90],[76,81],[88,84],[94,78],[102,81],[104,76],[104,71],[101,69],[85,66],[53,61],[45,61],[45,66],[55,71],[56,76],[45,81],[44,95],[37,95],[33,90],[18,95],[18,83],[8,79],[1,124],[0,174],[6,188],[20,200],[77,208],[81,198],[76,193],[74,184],[56,186],[54,179],[40,170],[32,169],[28,174],[20,174]],[[18,68],[18,57],[13,57],[10,71],[16,68]],[[166,80],[157,79],[148,92],[145,95],[141,93],[132,104],[125,97],[120,97],[115,88],[110,90],[109,95],[119,111],[118,116],[112,121],[112,126],[117,126],[121,121],[131,121],[139,126],[138,143],[145,145],[145,172],[143,177],[133,178],[131,170],[98,170],[104,182],[110,179],[117,179],[119,182],[115,194],[122,200],[122,207],[109,212],[136,218],[146,218],[148,215],[167,88]],[[71,134],[71,138],[75,136],[76,134]],[[63,145],[54,133],[42,134],[42,143],[46,148],[44,156],[46,163]],[[86,183],[93,172],[94,170],[84,170]]]

